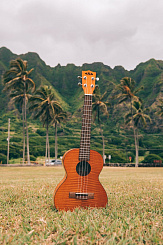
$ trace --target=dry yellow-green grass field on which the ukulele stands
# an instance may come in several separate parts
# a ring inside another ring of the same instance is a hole
[[[58,212],[62,167],[0,168],[0,244],[162,244],[163,168],[104,167],[105,209]]]

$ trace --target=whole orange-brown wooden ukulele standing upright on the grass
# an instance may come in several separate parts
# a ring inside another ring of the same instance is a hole
[[[107,194],[99,181],[103,168],[102,156],[90,150],[92,94],[95,89],[96,72],[82,71],[84,107],[79,149],[67,151],[62,160],[66,175],[54,192],[54,205],[58,210],[77,207],[106,207]]]

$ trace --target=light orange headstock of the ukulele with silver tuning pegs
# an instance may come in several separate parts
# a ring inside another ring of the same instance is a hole
[[[95,81],[99,81],[99,78],[96,78],[96,72],[93,71],[82,71],[82,77],[78,76],[78,78],[82,79],[82,88],[84,90],[84,94],[92,95],[95,89]]]

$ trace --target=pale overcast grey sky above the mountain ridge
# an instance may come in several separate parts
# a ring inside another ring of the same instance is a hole
[[[127,70],[163,60],[163,0],[0,0],[0,47]]]

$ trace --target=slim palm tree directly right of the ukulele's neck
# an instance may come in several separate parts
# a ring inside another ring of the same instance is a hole
[[[93,110],[93,121],[96,120],[97,118],[97,122],[99,124],[100,127],[100,132],[101,132],[101,136],[102,136],[102,145],[103,145],[103,160],[105,162],[104,156],[105,156],[105,141],[104,141],[104,134],[103,134],[103,130],[101,128],[101,118],[100,115],[101,113],[104,115],[109,116],[108,110],[107,110],[107,106],[110,105],[109,102],[103,101],[105,100],[107,92],[105,92],[103,95],[101,95],[100,93],[100,89],[96,88],[94,90],[94,94],[93,94],[93,103],[92,103],[92,110]]]

